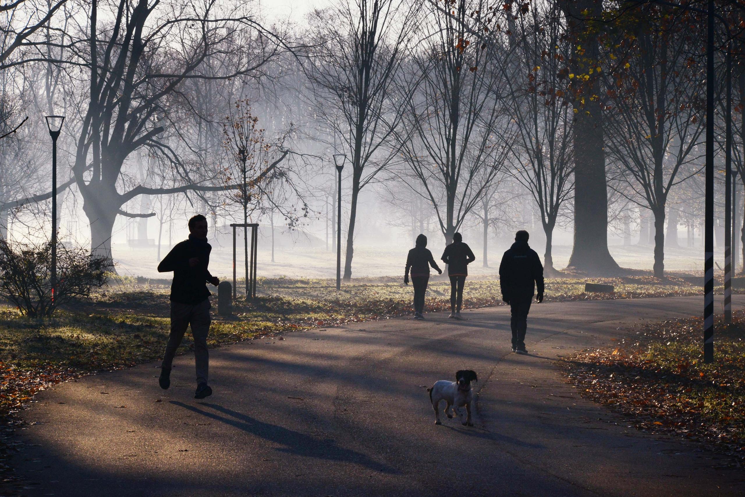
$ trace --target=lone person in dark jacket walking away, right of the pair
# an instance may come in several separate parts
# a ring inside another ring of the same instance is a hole
[[[525,332],[527,313],[538,287],[536,301],[543,302],[543,265],[535,250],[527,244],[530,235],[524,229],[515,233],[515,243],[502,256],[499,265],[499,287],[502,300],[510,305],[510,328],[513,333],[513,352],[527,354]]]

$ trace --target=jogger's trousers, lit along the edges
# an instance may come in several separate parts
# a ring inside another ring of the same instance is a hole
[[[171,302],[171,335],[163,354],[163,364],[167,370],[171,369],[174,355],[184,338],[184,333],[191,324],[191,336],[194,337],[194,362],[197,366],[197,384],[206,383],[209,374],[209,352],[207,352],[207,334],[209,333],[209,300],[190,306],[178,302]]]

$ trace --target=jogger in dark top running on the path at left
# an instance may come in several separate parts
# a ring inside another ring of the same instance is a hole
[[[165,346],[158,383],[165,390],[171,386],[171,367],[176,350],[191,325],[194,337],[194,362],[197,368],[197,391],[194,399],[212,395],[207,385],[209,353],[209,290],[206,283],[217,286],[220,280],[209,273],[209,253],[212,246],[207,243],[207,219],[197,214],[188,220],[188,240],[181,241],[158,265],[159,273],[174,272],[171,282],[171,335]]]

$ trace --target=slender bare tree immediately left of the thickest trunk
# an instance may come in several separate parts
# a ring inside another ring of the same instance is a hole
[[[516,19],[513,37],[518,54],[507,78],[508,102],[518,130],[509,171],[538,207],[546,235],[544,267],[549,273],[555,271],[551,245],[557,218],[574,190],[574,115],[559,80],[570,46],[562,37],[565,28],[559,13],[558,4],[548,4],[543,12],[534,7],[530,15]]]

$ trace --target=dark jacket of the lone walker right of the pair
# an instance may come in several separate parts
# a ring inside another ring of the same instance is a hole
[[[502,256],[499,265],[499,287],[507,300],[532,298],[538,286],[543,293],[543,265],[527,241],[516,241]]]

